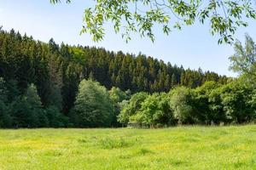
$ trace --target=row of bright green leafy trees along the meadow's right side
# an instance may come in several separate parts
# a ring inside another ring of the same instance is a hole
[[[138,93],[124,105],[119,122],[139,127],[253,122],[255,95],[255,89],[241,80],[226,85],[205,82],[195,89],[177,87],[169,93]]]

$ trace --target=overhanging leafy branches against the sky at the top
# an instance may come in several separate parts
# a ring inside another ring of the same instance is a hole
[[[236,29],[247,26],[245,19],[256,19],[255,5],[252,0],[96,0],[84,10],[81,33],[88,32],[94,41],[101,41],[104,24],[110,21],[126,42],[133,32],[154,41],[154,26],[161,26],[168,35],[172,29],[209,23],[212,35],[219,35],[218,43],[232,42]]]

